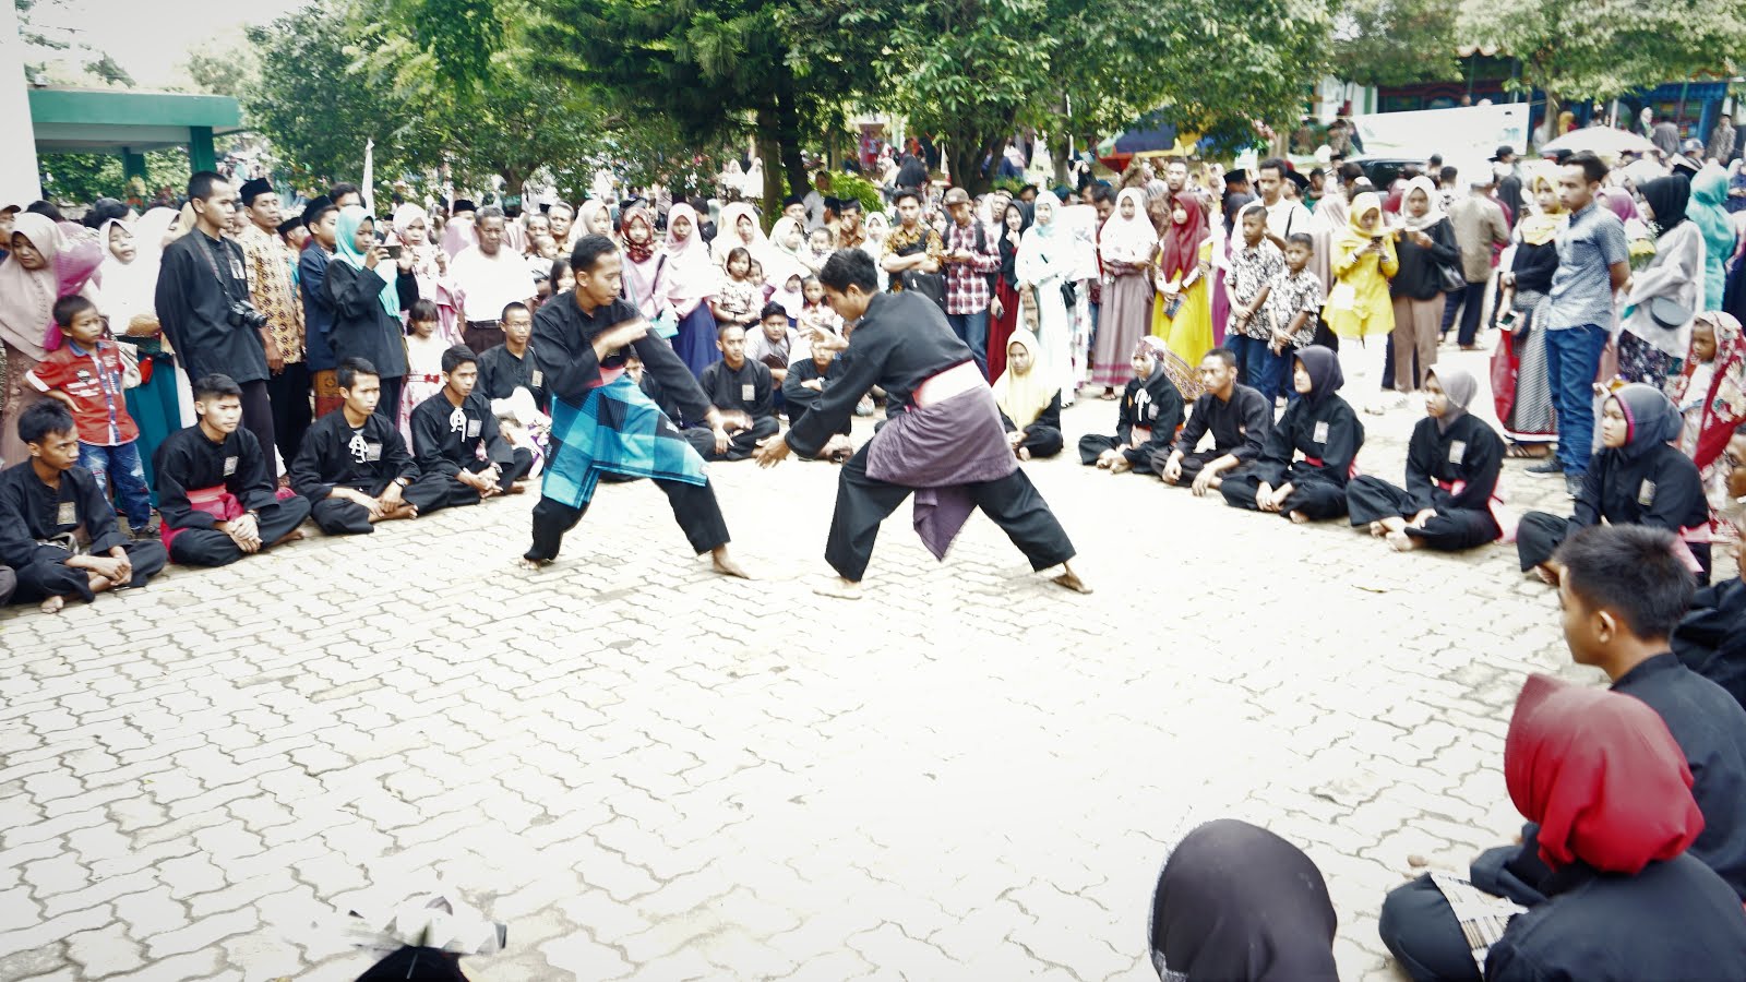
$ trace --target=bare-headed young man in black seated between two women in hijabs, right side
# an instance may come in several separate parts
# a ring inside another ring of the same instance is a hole
[[[1161,360],[1161,356],[1159,356]],[[1224,474],[1255,463],[1273,433],[1273,402],[1236,381],[1236,355],[1213,348],[1201,358],[1201,386],[1182,433],[1170,451],[1152,454],[1152,472],[1165,484],[1191,482],[1196,496],[1219,489]],[[1212,433],[1212,449],[1200,449],[1201,437]]]

